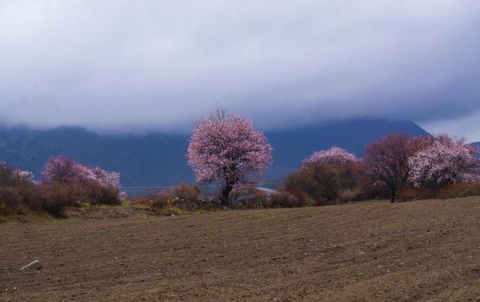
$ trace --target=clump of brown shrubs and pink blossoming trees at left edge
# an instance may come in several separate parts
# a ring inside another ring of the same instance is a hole
[[[51,157],[40,181],[34,181],[32,172],[0,162],[0,214],[31,209],[58,216],[64,207],[119,204],[123,198],[117,172],[82,165],[68,157]]]

